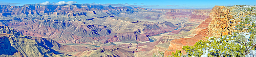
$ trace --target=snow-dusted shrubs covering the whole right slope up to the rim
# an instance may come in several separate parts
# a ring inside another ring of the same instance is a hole
[[[244,7],[237,5],[237,7]],[[254,10],[254,7],[251,8],[240,8],[237,10],[249,11],[247,14],[251,15],[251,11]],[[256,14],[254,14],[256,16]],[[237,16],[236,16],[237,17]],[[229,35],[217,37],[209,37],[206,40],[200,40],[196,42],[193,46],[183,46],[183,50],[187,54],[182,54],[177,50],[173,53],[173,56],[246,56],[250,50],[256,50],[256,28],[255,19],[251,16],[242,17],[240,25],[236,25],[236,30]],[[243,18],[245,18],[243,20]],[[232,18],[233,19],[233,18]],[[248,26],[251,24],[252,26]]]

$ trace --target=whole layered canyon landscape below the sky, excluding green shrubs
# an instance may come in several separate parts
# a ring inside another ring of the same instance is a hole
[[[0,5],[0,56],[164,56],[238,30],[255,9],[147,9],[89,4]],[[255,7],[255,6],[238,6]],[[243,8],[242,8],[243,9]],[[242,13],[243,11],[239,12]],[[248,12],[249,13],[249,12]],[[251,26],[251,24],[245,24]],[[253,27],[255,28],[255,27]]]

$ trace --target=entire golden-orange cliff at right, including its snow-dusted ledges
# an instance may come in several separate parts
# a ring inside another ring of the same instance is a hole
[[[228,35],[232,32],[236,32],[234,28],[236,25],[241,24],[242,17],[248,16],[247,12],[234,11],[236,6],[215,6],[212,8],[209,18],[205,19],[199,26],[194,29],[193,34],[196,34],[191,38],[180,38],[170,41],[169,47],[165,50],[165,56],[172,55],[172,52],[182,50],[183,46],[192,46],[199,40],[205,40],[205,37],[215,36],[221,37],[222,35]],[[242,6],[239,6],[242,7]],[[253,11],[253,10],[252,10]],[[253,13],[252,13],[253,14]],[[238,18],[233,18],[234,16]],[[239,19],[241,17],[241,19]],[[251,26],[251,24],[243,24],[245,26]],[[185,53],[184,50],[182,50]]]

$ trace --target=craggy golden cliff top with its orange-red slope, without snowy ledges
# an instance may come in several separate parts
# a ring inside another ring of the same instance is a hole
[[[229,9],[223,9],[223,6],[215,6],[212,8],[209,17],[205,19],[199,26],[194,29],[193,34],[196,34],[191,38],[180,38],[170,41],[168,50],[165,50],[165,56],[171,55],[176,49],[182,50],[183,46],[192,46],[199,40],[204,40],[205,37],[209,36],[221,36],[227,35],[226,32],[231,32],[228,30],[227,25],[228,20],[231,19],[231,15],[228,15]],[[217,18],[218,16],[224,16],[224,18]],[[205,16],[202,16],[205,17]],[[194,17],[191,17],[193,19]],[[202,18],[203,19],[203,18]],[[227,29],[227,30],[226,30]],[[224,32],[224,33],[222,33]],[[184,50],[182,50],[185,53]]]

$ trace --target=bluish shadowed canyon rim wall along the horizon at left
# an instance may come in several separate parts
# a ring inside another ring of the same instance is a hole
[[[79,16],[84,15],[84,11],[102,11],[102,10],[124,10],[128,9],[125,7],[104,7],[104,6],[91,6],[91,5],[24,5],[24,6],[10,6],[10,5],[1,5],[2,11],[0,12],[1,16],[8,15],[19,15],[19,14],[43,14],[43,15],[68,15],[68,16]]]

